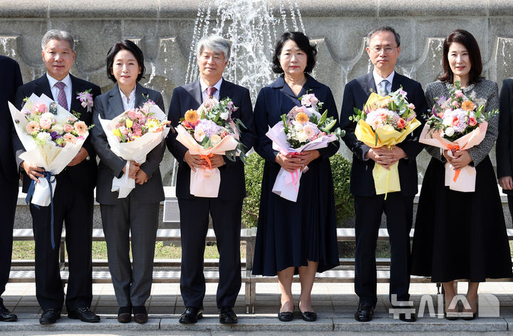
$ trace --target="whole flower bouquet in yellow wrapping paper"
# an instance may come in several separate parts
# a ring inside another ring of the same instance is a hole
[[[408,103],[402,88],[386,97],[371,93],[363,110],[355,107],[355,115],[350,120],[358,122],[355,135],[358,140],[371,148],[390,147],[403,142],[405,138],[420,126],[415,115],[415,105]],[[374,164],[373,178],[377,195],[400,191],[398,163],[383,169]]]

